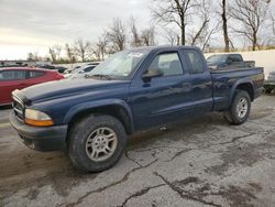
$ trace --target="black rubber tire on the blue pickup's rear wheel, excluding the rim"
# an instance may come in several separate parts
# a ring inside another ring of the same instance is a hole
[[[243,99],[246,100],[248,110],[245,113],[242,113],[241,116],[239,116],[238,103]],[[229,123],[241,124],[241,123],[245,122],[246,119],[249,118],[250,110],[251,110],[251,98],[250,98],[249,92],[246,92],[245,90],[237,90],[229,110],[223,112],[223,118]]]

